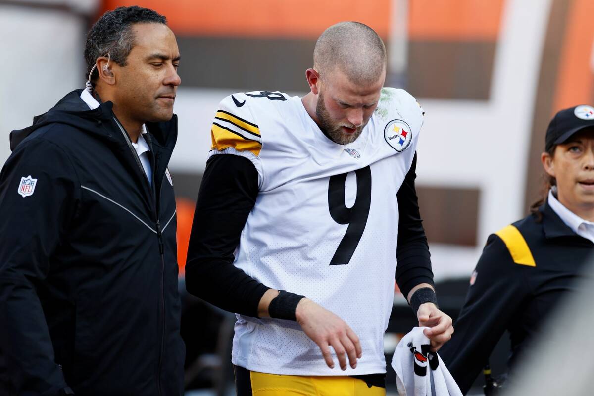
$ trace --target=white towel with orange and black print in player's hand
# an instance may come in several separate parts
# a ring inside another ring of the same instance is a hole
[[[426,327],[415,327],[396,346],[392,368],[400,396],[462,396],[441,357],[429,351]]]

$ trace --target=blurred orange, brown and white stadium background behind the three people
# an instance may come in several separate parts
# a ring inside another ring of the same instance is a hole
[[[440,304],[454,318],[486,237],[526,216],[541,192],[539,155],[552,115],[594,103],[592,0],[0,0],[2,163],[12,129],[84,87],[91,24],[128,5],[165,15],[182,55],[169,164],[182,281],[217,104],[236,91],[307,93],[315,40],[331,24],[374,28],[388,49],[386,85],[406,88],[425,109],[417,191]],[[225,394],[233,316],[190,296],[184,304],[187,387]],[[396,293],[388,360],[414,320]],[[505,343],[492,357],[495,372]],[[388,391],[396,390],[392,379],[388,373]]]

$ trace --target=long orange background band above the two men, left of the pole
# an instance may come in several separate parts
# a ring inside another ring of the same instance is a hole
[[[387,37],[390,0],[108,0],[105,10],[140,5],[168,19],[175,33],[198,36],[317,39],[331,24],[356,20]]]

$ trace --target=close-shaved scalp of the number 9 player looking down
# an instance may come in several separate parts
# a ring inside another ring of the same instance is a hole
[[[314,68],[322,79],[340,69],[355,84],[375,83],[386,69],[386,47],[369,26],[337,23],[315,43]]]

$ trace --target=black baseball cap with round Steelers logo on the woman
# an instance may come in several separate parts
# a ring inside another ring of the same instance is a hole
[[[555,144],[567,141],[571,135],[584,128],[594,127],[594,107],[587,104],[564,109],[555,114],[546,129],[545,151]]]

